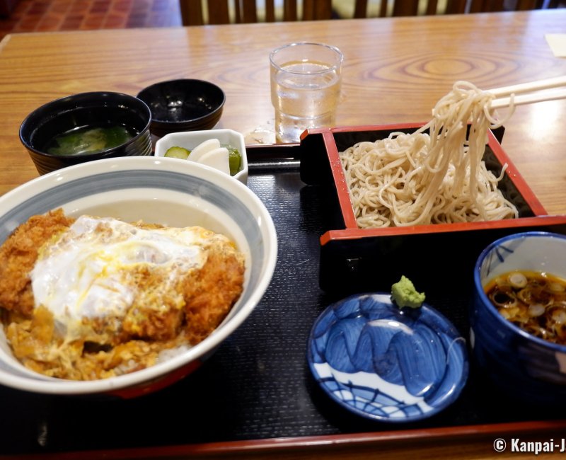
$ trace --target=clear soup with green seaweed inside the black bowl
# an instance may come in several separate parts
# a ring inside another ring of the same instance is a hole
[[[125,144],[139,134],[125,126],[83,126],[58,134],[45,146],[52,155],[96,154]]]

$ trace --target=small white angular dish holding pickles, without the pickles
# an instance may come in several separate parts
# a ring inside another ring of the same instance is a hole
[[[248,156],[246,155],[246,142],[243,134],[233,130],[204,130],[172,132],[161,137],[155,144],[155,156],[165,156],[165,152],[174,146],[192,150],[198,144],[208,139],[218,139],[221,144],[229,144],[236,147],[242,156],[242,168],[233,177],[241,183],[248,183]],[[189,156],[190,159],[190,156]],[[187,161],[187,160],[179,160]]]

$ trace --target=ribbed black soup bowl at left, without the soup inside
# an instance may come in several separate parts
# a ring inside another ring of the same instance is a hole
[[[20,127],[20,140],[40,174],[87,161],[118,156],[151,155],[151,111],[134,96],[107,91],[79,93],[33,110]],[[133,134],[120,145],[93,153],[52,154],[47,146],[54,137],[86,127],[125,127]]]

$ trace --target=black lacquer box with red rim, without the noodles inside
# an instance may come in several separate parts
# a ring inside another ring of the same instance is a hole
[[[412,132],[422,124],[338,127],[308,130],[301,140],[301,179],[328,188],[327,229],[320,236],[320,287],[325,290],[388,289],[399,272],[415,281],[457,282],[470,277],[473,263],[491,241],[510,233],[545,230],[564,233],[566,216],[548,216],[500,141],[503,128],[489,132],[484,161],[499,176],[503,195],[519,209],[518,219],[457,224],[359,229],[338,153],[391,132]],[[323,146],[323,148],[321,148]],[[434,270],[423,270],[434,266]]]

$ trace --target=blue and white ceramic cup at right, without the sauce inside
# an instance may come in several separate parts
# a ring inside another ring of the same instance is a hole
[[[485,294],[490,280],[514,270],[566,279],[566,236],[543,231],[514,234],[491,243],[480,254],[470,312],[473,356],[480,369],[513,398],[524,403],[566,403],[566,345],[527,333],[499,314]]]

